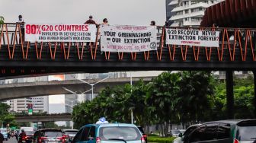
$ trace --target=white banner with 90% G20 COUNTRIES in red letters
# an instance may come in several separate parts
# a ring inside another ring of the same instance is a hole
[[[95,42],[94,24],[25,24],[25,41]]]

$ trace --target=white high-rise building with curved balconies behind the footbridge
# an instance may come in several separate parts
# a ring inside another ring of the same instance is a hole
[[[206,8],[223,0],[166,0],[171,27],[199,27]],[[174,8],[175,7],[175,8]]]

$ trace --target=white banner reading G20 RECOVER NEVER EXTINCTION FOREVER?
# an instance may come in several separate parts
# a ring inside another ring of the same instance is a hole
[[[166,29],[166,44],[219,47],[219,31]]]

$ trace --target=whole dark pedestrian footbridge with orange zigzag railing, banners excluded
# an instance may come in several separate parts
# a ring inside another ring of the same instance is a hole
[[[178,27],[187,29],[188,27]],[[28,43],[19,24],[0,25],[0,77],[70,72],[139,70],[254,70],[255,30],[191,28],[220,31],[219,47],[165,45],[165,27],[158,27],[156,52],[101,52],[96,44]]]

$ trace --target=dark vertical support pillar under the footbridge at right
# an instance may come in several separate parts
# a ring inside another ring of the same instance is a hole
[[[234,119],[234,91],[233,91],[233,71],[226,71],[226,100],[227,100],[227,118]]]

